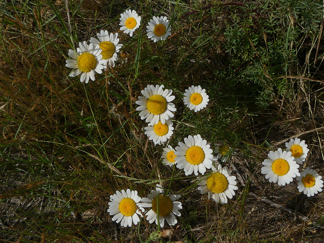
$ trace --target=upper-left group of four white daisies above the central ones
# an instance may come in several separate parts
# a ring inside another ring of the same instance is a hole
[[[126,10],[120,14],[120,30],[133,36],[136,29],[141,24],[141,16],[138,16],[135,10]],[[167,17],[153,17],[147,25],[147,36],[153,42],[166,40],[171,35],[170,22]],[[80,42],[79,47],[69,50],[68,55],[72,59],[66,60],[66,67],[74,70],[69,74],[71,77],[80,75],[80,82],[88,83],[89,80],[95,80],[95,74],[101,74],[109,67],[114,67],[118,60],[117,53],[123,45],[118,44],[118,33],[109,33],[107,30],[101,30],[97,33],[98,38],[91,37],[90,44]]]

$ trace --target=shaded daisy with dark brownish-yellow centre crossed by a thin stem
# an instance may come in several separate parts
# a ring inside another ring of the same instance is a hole
[[[175,225],[178,221],[176,216],[181,216],[179,210],[182,209],[181,203],[176,201],[180,198],[180,195],[164,195],[163,188],[160,185],[156,185],[156,190],[152,190],[147,197],[142,198],[142,206],[144,208],[151,208],[145,213],[149,223],[157,225],[157,197],[158,197],[158,215],[160,226],[164,226],[164,221],[166,220],[169,225]],[[175,216],[176,215],[176,216]]]

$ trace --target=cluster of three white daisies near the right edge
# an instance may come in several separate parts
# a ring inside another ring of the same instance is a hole
[[[299,172],[306,160],[309,149],[305,140],[299,138],[291,139],[286,143],[286,151],[279,148],[277,151],[270,151],[268,159],[262,163],[261,173],[269,182],[278,182],[278,185],[285,186],[293,181],[298,181],[298,190],[307,196],[313,196],[320,192],[323,187],[322,177],[309,167]]]

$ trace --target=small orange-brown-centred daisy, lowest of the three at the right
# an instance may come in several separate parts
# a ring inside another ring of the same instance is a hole
[[[307,167],[300,176],[297,177],[299,192],[304,192],[307,196],[313,196],[322,191],[323,181],[316,171]]]

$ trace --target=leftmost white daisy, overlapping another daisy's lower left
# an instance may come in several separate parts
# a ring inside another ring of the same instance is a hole
[[[75,77],[81,73],[80,82],[89,82],[95,80],[95,73],[102,73],[104,60],[102,59],[101,49],[93,46],[92,44],[88,45],[87,42],[80,42],[79,47],[76,49],[76,52],[69,50],[68,55],[72,59],[66,60],[66,67],[75,68],[70,73],[70,77]]]

